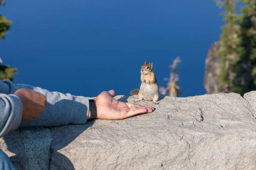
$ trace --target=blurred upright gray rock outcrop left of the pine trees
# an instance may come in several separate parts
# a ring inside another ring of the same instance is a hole
[[[217,94],[219,81],[216,77],[220,74],[221,57],[216,56],[215,52],[221,48],[221,42],[214,42],[209,48],[205,59],[204,88],[207,94]]]

